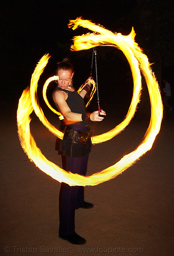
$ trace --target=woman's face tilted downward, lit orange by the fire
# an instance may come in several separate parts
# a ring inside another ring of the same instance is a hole
[[[71,79],[73,77],[74,73],[72,73],[71,70],[63,70],[60,69],[57,72],[58,79],[58,86],[61,89],[66,89],[71,84]]]

